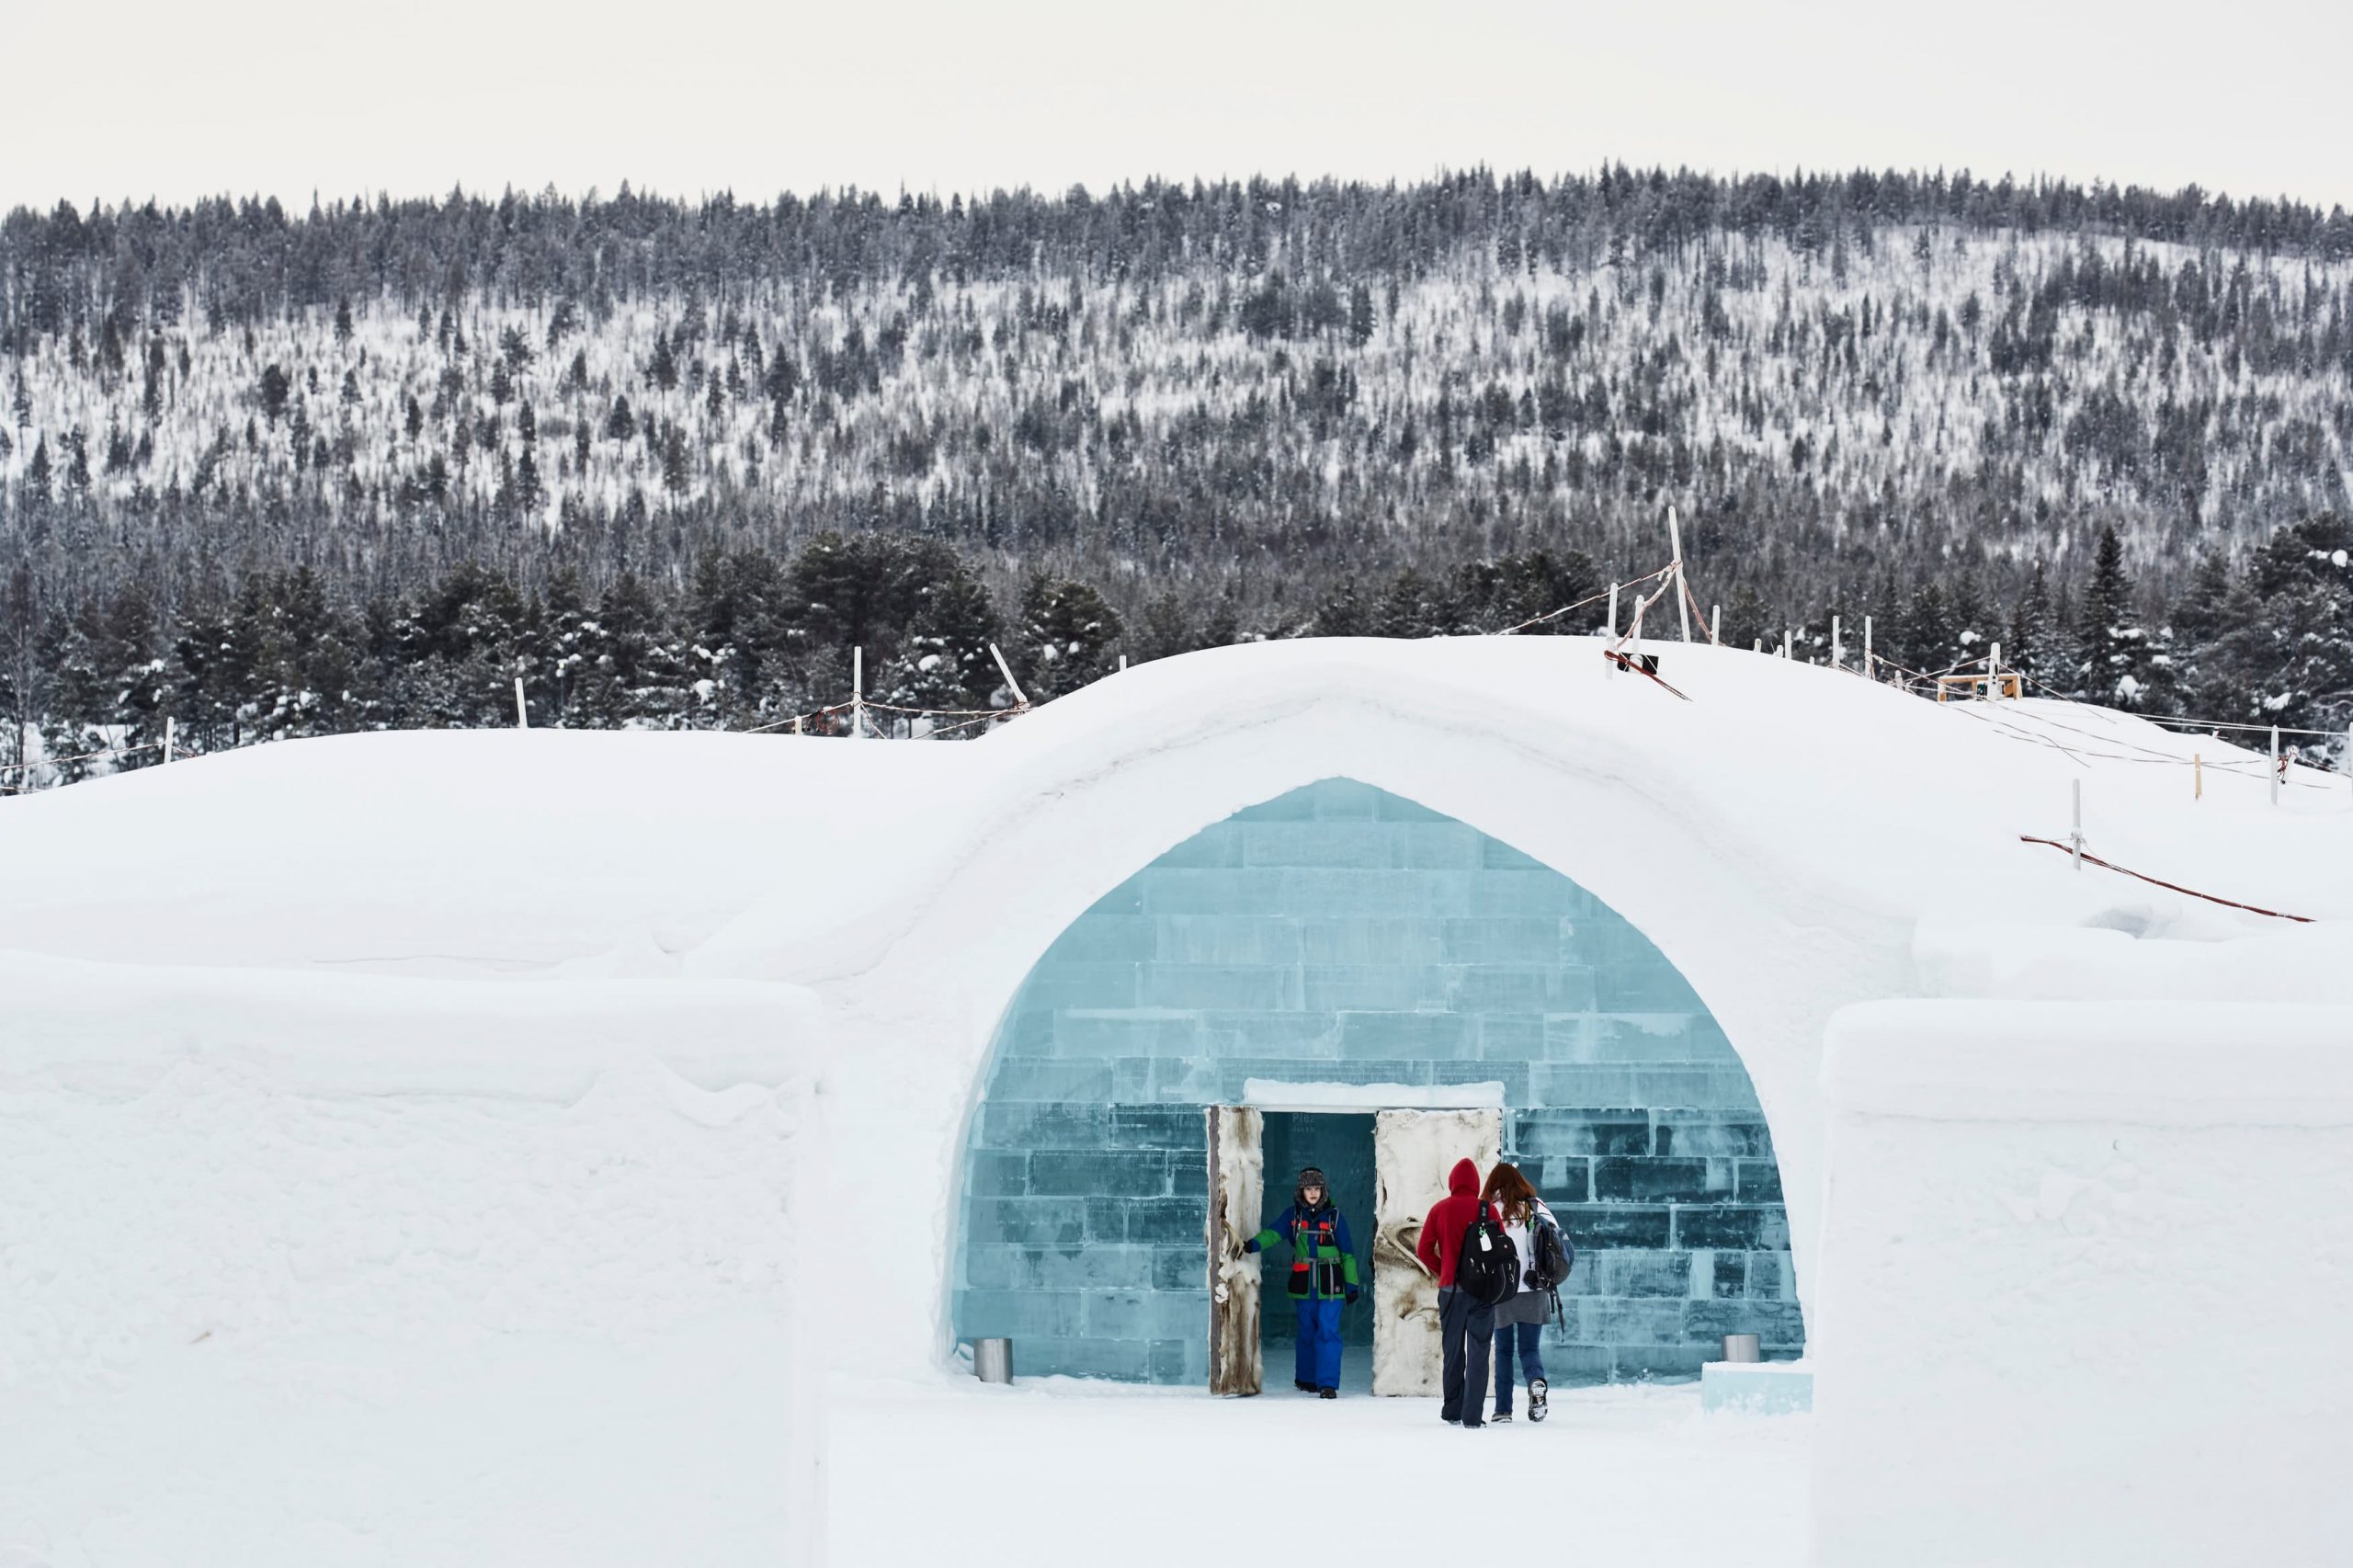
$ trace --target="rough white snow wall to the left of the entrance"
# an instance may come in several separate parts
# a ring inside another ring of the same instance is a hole
[[[0,989],[0,1561],[809,1561],[807,994]]]

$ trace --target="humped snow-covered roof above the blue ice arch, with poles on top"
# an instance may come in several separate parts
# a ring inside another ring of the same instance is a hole
[[[1186,833],[1329,775],[1553,859],[1678,961],[1689,906],[1729,897],[1725,878],[1784,913],[1934,916],[1944,932],[2280,935],[2280,921],[2075,873],[2019,843],[2066,838],[2075,784],[2104,859],[2353,916],[2341,775],[2294,768],[2273,808],[2264,758],[2212,737],[1657,647],[1689,702],[1609,673],[1588,638],[1348,638],[1146,664],[967,744],[532,730],[252,746],[0,803],[0,949],[821,979],[868,965],[1014,824],[1061,824],[1047,843],[1101,892]],[[1722,876],[1671,883],[1687,857]],[[1002,878],[1024,873],[993,873],[1019,902]]]

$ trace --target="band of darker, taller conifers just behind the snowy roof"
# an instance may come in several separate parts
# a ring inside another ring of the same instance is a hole
[[[1988,598],[1974,572],[1887,577],[1805,624],[1779,622],[1744,593],[1722,607],[1722,638],[1767,650],[1786,640],[1795,657],[1828,662],[1838,657],[1828,617],[1840,614],[1854,664],[1873,617],[1882,673],[1922,692],[1929,676],[1984,669],[2000,645],[2002,666],[2021,671],[2033,695],[2341,737],[2353,723],[2348,563],[2353,525],[2311,518],[2245,567],[2207,556],[2167,614],[2148,622],[2106,532],[2080,593],[2045,572],[2009,603]],[[1193,617],[1176,593],[1122,617],[1094,584],[1052,574],[998,596],[946,544],[821,534],[784,560],[758,549],[708,553],[675,591],[621,574],[591,596],[569,572],[525,589],[464,563],[412,593],[344,598],[311,567],[285,567],[172,619],[136,582],[42,605],[19,567],[0,598],[12,638],[0,647],[0,753],[19,763],[132,749],[9,775],[35,786],[153,765],[165,720],[181,751],[499,727],[515,723],[518,680],[534,725],[842,735],[852,650],[864,652],[882,732],[969,737],[1016,704],[998,652],[1021,697],[1052,702],[1122,659],[1240,640],[1593,633],[1607,619],[1607,577],[1581,551],[1344,574],[1306,617],[1249,624],[1231,605]],[[1581,607],[1558,614],[1572,605]],[[2315,751],[2337,756],[2341,744]]]

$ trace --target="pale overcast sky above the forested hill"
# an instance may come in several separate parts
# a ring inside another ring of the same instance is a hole
[[[1969,167],[2353,207],[2346,0],[0,0],[0,207]]]

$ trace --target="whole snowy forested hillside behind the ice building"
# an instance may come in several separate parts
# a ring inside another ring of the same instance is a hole
[[[1913,669],[2002,640],[2099,702],[2353,711],[2353,219],[2297,205],[59,205],[0,224],[0,760],[501,723],[518,673],[541,723],[755,725],[849,647],[962,709],[1007,702],[988,640],[1049,697],[1497,631],[1659,565],[1668,506],[1727,640],[1875,614]]]

